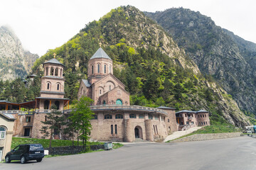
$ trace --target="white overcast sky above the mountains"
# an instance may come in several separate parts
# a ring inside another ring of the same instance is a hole
[[[0,0],[0,26],[11,27],[26,50],[41,56],[63,45],[90,21],[126,5],[149,12],[190,8],[256,42],[255,0]]]

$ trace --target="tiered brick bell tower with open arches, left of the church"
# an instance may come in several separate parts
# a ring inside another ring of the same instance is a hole
[[[48,110],[54,104],[58,110],[63,110],[65,104],[69,101],[68,98],[64,98],[64,65],[53,58],[43,63],[43,69],[40,97],[36,98],[39,102],[39,109]]]

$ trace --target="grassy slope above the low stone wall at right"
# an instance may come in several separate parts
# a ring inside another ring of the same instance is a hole
[[[191,135],[195,135],[195,134],[206,134],[206,133],[225,133],[225,132],[242,132],[242,129],[240,128],[235,128],[235,126],[233,125],[229,125],[229,124],[215,124],[215,125],[209,125],[209,126],[205,126],[199,130],[196,130],[195,132],[191,132],[188,135],[183,135],[181,137],[178,137],[174,140],[178,140],[181,139],[183,137],[188,137]],[[167,142],[171,142],[174,140],[169,140]]]

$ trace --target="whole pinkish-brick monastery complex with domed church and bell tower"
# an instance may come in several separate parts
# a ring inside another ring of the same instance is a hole
[[[171,132],[187,130],[194,126],[210,125],[207,111],[179,111],[161,106],[149,108],[130,106],[129,92],[113,75],[113,62],[102,48],[88,62],[87,79],[82,79],[78,99],[82,96],[94,101],[90,109],[95,113],[91,120],[92,140],[134,142],[164,139]],[[0,113],[12,114],[14,136],[41,138],[41,121],[54,104],[63,113],[70,113],[69,99],[64,98],[64,65],[55,58],[43,63],[40,96],[35,101],[10,103],[0,101]],[[33,108],[33,112],[22,112],[21,108]],[[1,127],[1,125],[0,125]],[[1,128],[0,128],[1,129]],[[55,139],[65,135],[55,134]],[[1,139],[0,139],[1,140]]]

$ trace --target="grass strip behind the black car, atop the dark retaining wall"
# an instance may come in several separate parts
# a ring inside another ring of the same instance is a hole
[[[23,137],[13,137],[11,141],[11,149],[21,144],[33,144],[40,143],[44,148],[49,147],[50,140],[45,139],[34,139],[34,138],[23,138]],[[87,145],[102,145],[103,142],[87,142]],[[74,141],[74,145],[78,145],[78,141]],[[79,142],[82,146],[82,142]],[[68,147],[72,146],[72,140],[52,140],[52,147]]]

